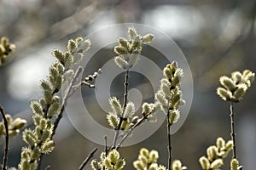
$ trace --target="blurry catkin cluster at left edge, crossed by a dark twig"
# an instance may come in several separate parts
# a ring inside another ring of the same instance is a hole
[[[13,119],[9,114],[5,115],[8,122],[9,137],[14,137],[20,133],[20,129],[26,125],[26,120],[21,118]],[[4,122],[0,122],[0,136],[5,135]]]

